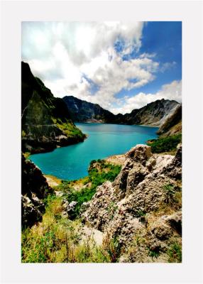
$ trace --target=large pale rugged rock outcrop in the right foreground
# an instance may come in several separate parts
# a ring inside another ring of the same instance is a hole
[[[116,180],[97,187],[85,224],[102,231],[104,243],[119,241],[121,262],[167,262],[170,247],[181,247],[181,172],[181,145],[175,156],[137,145]]]

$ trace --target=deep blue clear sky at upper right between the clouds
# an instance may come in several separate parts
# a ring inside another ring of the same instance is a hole
[[[116,51],[121,51],[121,42],[114,45]],[[139,92],[155,93],[163,84],[168,84],[174,80],[182,80],[182,22],[148,22],[143,27],[141,49],[133,50],[124,60],[131,60],[143,53],[155,54],[155,60],[163,65],[163,70],[156,72],[156,78],[150,84],[143,87],[133,88],[129,91],[122,89],[115,94],[121,98],[124,95],[129,97]],[[170,67],[164,68],[167,62],[174,62]]]

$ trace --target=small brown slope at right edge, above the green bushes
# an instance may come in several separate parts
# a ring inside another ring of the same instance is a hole
[[[182,105],[178,105],[165,119],[157,133],[162,137],[182,133]]]

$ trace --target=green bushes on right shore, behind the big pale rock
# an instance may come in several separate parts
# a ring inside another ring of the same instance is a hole
[[[182,140],[182,134],[168,136],[164,138],[153,139],[147,142],[151,147],[152,153],[163,153],[175,151],[177,144]]]

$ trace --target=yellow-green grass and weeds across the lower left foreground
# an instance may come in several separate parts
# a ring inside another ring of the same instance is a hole
[[[22,231],[23,263],[118,261],[121,247],[117,239],[108,235],[102,246],[97,246],[92,235],[82,239],[81,220],[71,221],[63,215],[62,198],[49,196],[45,202],[43,221]]]

